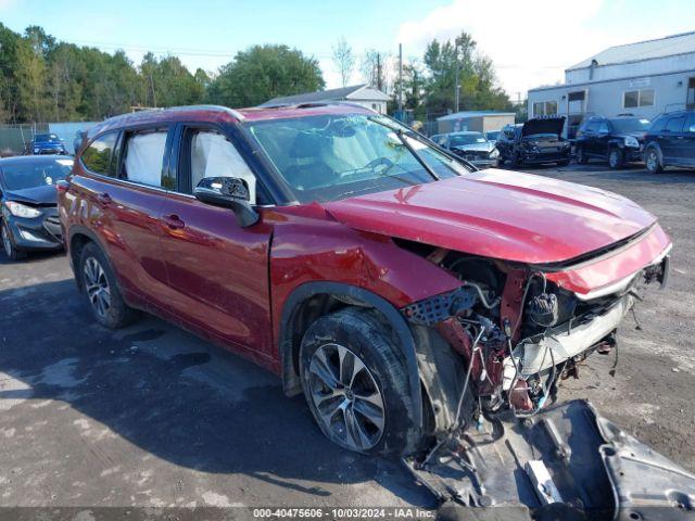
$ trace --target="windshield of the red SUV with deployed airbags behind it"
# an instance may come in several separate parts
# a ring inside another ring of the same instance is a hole
[[[433,182],[469,171],[383,116],[270,119],[249,123],[248,129],[301,203]]]

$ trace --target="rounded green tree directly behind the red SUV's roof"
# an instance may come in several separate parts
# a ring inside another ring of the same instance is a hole
[[[287,46],[254,46],[223,66],[207,89],[207,100],[227,106],[253,106],[279,96],[325,87],[318,62]]]

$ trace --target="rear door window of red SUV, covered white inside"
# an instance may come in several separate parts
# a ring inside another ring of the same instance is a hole
[[[123,177],[150,187],[165,187],[162,181],[167,130],[138,131],[128,135]]]

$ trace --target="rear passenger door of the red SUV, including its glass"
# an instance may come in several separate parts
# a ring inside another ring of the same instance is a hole
[[[155,304],[167,283],[160,249],[168,128],[108,132],[85,150],[77,179],[89,228],[101,238],[123,289]]]

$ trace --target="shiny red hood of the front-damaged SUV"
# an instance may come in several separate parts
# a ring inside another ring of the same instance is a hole
[[[494,168],[325,207],[354,229],[528,264],[568,260],[656,221],[615,193]]]

